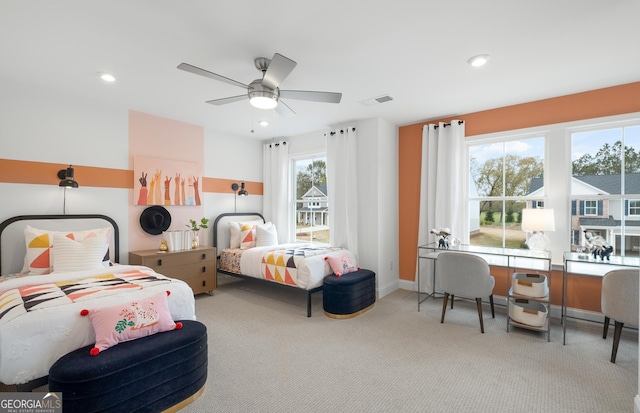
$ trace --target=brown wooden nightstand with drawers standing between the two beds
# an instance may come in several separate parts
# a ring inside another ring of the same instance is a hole
[[[165,253],[131,251],[129,264],[144,265],[159,274],[182,280],[189,284],[194,295],[211,295],[216,288],[216,249],[213,247]]]

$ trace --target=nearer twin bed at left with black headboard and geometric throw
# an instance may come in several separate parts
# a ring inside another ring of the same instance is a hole
[[[118,225],[104,215],[23,215],[0,224],[2,384],[18,391],[44,385],[56,360],[95,343],[83,309],[170,291],[172,318],[195,320],[191,288],[119,264],[118,239]]]

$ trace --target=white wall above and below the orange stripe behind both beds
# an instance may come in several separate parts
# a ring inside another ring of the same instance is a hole
[[[105,107],[71,95],[0,80],[0,158],[131,169],[129,107]],[[161,114],[154,114],[161,116]],[[177,119],[180,120],[180,119]],[[205,130],[204,176],[262,182],[262,144]],[[1,173],[1,172],[0,172]],[[80,184],[68,190],[68,214],[100,213],[120,227],[120,258],[128,262],[127,228],[132,189]],[[0,221],[23,214],[62,214],[64,189],[55,185],[0,183]],[[203,194],[205,216],[233,211],[229,193]],[[238,199],[238,211],[262,211],[262,196]],[[211,229],[202,236],[212,244]]]

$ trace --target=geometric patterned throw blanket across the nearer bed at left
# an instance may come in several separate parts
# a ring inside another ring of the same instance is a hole
[[[138,270],[104,274],[82,280],[58,281],[25,285],[0,294],[0,325],[22,314],[45,307],[55,307],[113,295],[145,286],[170,283],[162,275],[150,275]]]

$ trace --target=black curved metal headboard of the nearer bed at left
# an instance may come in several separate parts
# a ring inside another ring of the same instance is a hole
[[[27,247],[24,228],[52,231],[81,231],[110,226],[109,257],[120,262],[120,232],[118,224],[110,217],[99,214],[83,215],[19,215],[0,223],[0,274],[12,274],[22,270]]]

